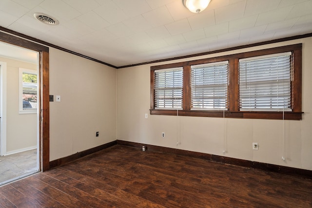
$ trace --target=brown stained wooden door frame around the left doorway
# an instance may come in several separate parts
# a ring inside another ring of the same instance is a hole
[[[0,29],[3,29],[2,27]],[[39,52],[39,155],[40,171],[50,169],[49,47],[0,31],[0,41]]]

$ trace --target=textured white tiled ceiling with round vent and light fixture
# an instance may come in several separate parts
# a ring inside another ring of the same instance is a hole
[[[120,67],[312,33],[312,0],[0,0],[0,26]]]

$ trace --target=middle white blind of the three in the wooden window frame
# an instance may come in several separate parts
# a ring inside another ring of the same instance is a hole
[[[191,66],[192,110],[228,109],[228,61]]]

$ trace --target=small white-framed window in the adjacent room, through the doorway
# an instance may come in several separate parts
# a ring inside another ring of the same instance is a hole
[[[20,113],[37,113],[38,76],[37,71],[20,68]]]

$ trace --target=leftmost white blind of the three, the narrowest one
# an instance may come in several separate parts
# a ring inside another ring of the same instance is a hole
[[[183,68],[155,70],[155,109],[182,108]]]

